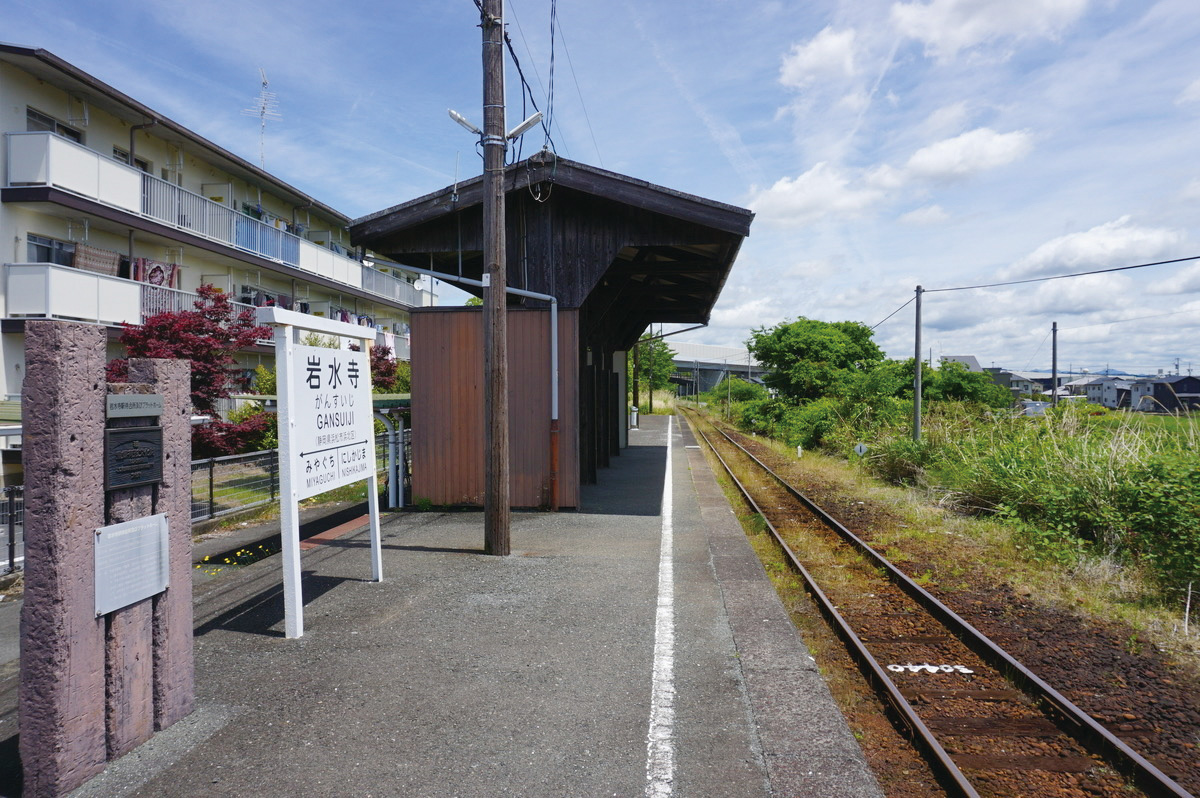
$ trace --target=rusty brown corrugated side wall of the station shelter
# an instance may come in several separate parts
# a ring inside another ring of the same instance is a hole
[[[550,505],[550,311],[509,311],[509,464],[515,508]],[[580,505],[578,313],[558,319],[558,504]],[[413,323],[413,498],[484,504],[484,328],[476,307]]]

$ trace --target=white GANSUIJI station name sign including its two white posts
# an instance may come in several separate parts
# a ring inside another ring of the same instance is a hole
[[[374,328],[284,311],[258,308],[258,323],[275,328],[276,392],[280,406],[280,530],[283,540],[286,635],[304,635],[300,587],[299,503],[335,487],[367,480],[371,512],[371,571],[383,581],[379,496],[374,467],[374,416],[367,347]],[[296,330],[353,338],[359,352],[306,347]]]

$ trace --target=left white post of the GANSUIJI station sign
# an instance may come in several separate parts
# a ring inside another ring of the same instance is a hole
[[[295,388],[292,361],[295,355],[295,328],[275,328],[275,389],[278,418],[294,425]],[[304,636],[304,595],[300,588],[300,506],[292,479],[293,436],[280,430],[280,536],[283,541],[283,623],[287,637]]]

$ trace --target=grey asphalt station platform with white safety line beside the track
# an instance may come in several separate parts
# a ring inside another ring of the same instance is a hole
[[[364,532],[323,540],[302,638],[278,558],[198,583],[197,712],[73,794],[881,794],[670,424],[642,419],[582,512],[515,514],[511,557],[478,512],[389,518],[382,583]]]

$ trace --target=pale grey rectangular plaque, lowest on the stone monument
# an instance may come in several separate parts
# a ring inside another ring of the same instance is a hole
[[[96,530],[96,614],[127,607],[167,589],[167,515]]]

